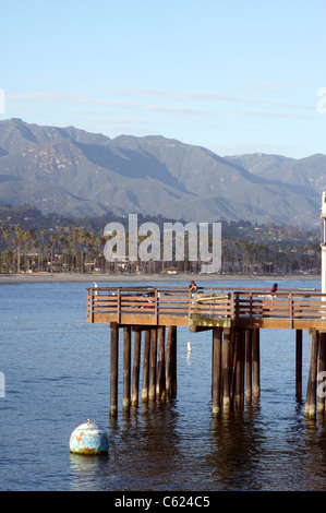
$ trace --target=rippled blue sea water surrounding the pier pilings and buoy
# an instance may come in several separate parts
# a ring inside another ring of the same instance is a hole
[[[1,490],[326,490],[326,420],[303,415],[307,333],[303,403],[295,399],[294,332],[262,330],[258,404],[213,419],[212,334],[178,329],[178,397],[123,414],[120,384],[111,420],[109,329],[85,319],[92,285],[0,285]],[[108,456],[70,454],[70,434],[87,418],[108,430]]]

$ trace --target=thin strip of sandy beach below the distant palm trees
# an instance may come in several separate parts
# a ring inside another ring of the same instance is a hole
[[[282,282],[282,281],[318,281],[319,275],[233,275],[233,274],[64,274],[64,273],[21,273],[21,274],[0,274],[1,284],[28,284],[28,283],[148,283],[148,282],[225,282],[234,279],[237,282]]]

